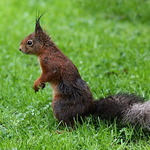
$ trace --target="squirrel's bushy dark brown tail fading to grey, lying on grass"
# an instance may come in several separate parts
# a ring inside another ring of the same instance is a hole
[[[122,120],[123,123],[140,124],[150,130],[150,101],[134,94],[117,94],[94,101],[92,113],[103,119]]]

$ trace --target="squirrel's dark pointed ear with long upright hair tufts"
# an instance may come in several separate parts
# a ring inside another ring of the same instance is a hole
[[[40,18],[42,16],[43,16],[43,14],[36,19],[36,25],[35,25],[35,36],[38,37],[38,39],[41,41],[42,41],[42,36],[43,36],[43,30],[40,26]]]

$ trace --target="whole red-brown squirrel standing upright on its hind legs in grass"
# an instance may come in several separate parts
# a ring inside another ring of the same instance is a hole
[[[133,94],[117,94],[95,100],[78,69],[51,40],[36,19],[35,31],[21,41],[19,50],[28,55],[36,55],[42,70],[34,82],[38,92],[48,82],[52,86],[52,108],[58,121],[74,127],[75,121],[94,115],[102,119],[122,120],[123,123],[140,124],[150,130],[150,101]]]

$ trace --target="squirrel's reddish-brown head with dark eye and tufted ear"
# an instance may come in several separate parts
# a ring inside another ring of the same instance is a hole
[[[35,32],[28,35],[21,41],[19,50],[25,54],[39,55],[42,47],[44,46],[44,38],[46,33],[43,32],[40,26],[40,18],[43,14],[36,19]]]

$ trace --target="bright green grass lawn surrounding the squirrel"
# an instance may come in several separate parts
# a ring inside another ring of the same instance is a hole
[[[19,52],[44,30],[77,66],[95,98],[118,92],[150,99],[150,0],[0,1],[0,149],[150,149],[150,134],[109,121],[86,119],[68,132],[53,116],[52,91],[34,93],[37,58]],[[57,134],[56,130],[64,130]]]

